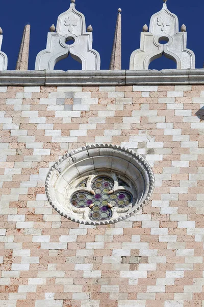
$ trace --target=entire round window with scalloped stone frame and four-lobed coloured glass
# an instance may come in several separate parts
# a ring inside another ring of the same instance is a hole
[[[74,150],[50,169],[49,203],[72,221],[104,225],[125,220],[150,198],[154,174],[132,150],[92,145]]]

